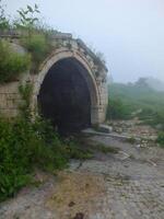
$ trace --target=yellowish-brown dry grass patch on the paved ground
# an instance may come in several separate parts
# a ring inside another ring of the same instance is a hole
[[[61,172],[58,181],[47,207],[54,209],[60,219],[71,219],[77,214],[83,214],[85,218],[96,209],[97,199],[105,193],[102,175]]]

